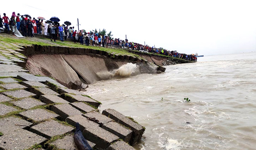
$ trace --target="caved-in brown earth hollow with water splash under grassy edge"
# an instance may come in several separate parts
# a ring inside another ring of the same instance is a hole
[[[69,84],[156,73],[158,67],[145,59],[128,55],[109,54],[104,51],[66,47],[27,47],[26,68],[32,74],[53,77]]]

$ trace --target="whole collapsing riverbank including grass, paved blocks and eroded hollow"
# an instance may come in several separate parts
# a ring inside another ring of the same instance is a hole
[[[145,128],[132,118],[101,114],[101,102],[65,85],[165,71],[150,56],[5,34],[0,43],[0,149],[74,149],[75,122],[95,149],[132,150],[141,139]]]

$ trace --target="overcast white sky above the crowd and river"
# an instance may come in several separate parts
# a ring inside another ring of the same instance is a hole
[[[105,28],[114,38],[199,55],[256,51],[255,0],[12,0],[12,12],[59,17],[77,29]]]

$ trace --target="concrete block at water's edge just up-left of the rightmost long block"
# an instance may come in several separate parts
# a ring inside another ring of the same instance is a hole
[[[87,102],[89,104],[91,104],[92,106],[95,106],[96,108],[98,108],[100,106],[100,103],[89,98],[86,96],[82,96],[82,95],[73,95],[73,94],[61,94],[60,97],[62,97],[63,99],[73,103],[73,102]]]

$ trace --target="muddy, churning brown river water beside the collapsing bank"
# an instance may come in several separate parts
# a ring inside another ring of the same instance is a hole
[[[198,61],[99,81],[86,93],[101,110],[116,109],[146,127],[136,149],[255,150],[256,53]]]

